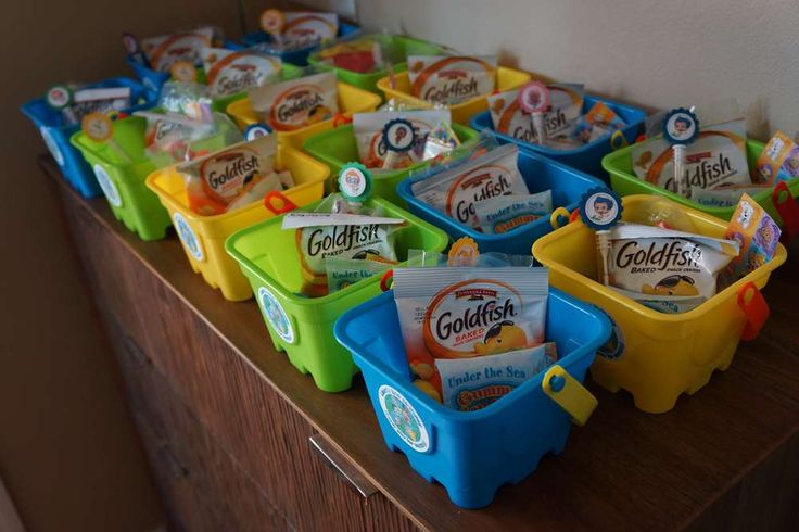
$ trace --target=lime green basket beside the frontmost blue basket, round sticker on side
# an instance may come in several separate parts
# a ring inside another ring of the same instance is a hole
[[[313,211],[317,204],[303,210]],[[372,198],[366,204],[408,221],[394,233],[401,261],[411,249],[443,251],[447,246],[444,231],[388,201]],[[249,279],[275,349],[284,351],[301,372],[310,373],[320,390],[342,392],[352,385],[358,368],[350,352],[335,341],[333,325],[344,312],[380,293],[380,276],[324,297],[300,295],[303,277],[296,230],[283,230],[282,221],[278,216],[242,229],[227,239],[225,249]]]

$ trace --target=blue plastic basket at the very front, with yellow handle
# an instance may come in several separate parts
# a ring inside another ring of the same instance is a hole
[[[550,289],[546,339],[557,343],[557,365],[575,380],[583,381],[610,329],[604,312]],[[563,451],[571,418],[545,394],[542,373],[471,413],[448,409],[417,389],[410,382],[392,292],[344,314],[334,333],[364,373],[385,444],[404,453],[428,482],[443,484],[456,505],[491,504],[499,486],[520,482],[545,454]],[[396,421],[381,401],[386,395],[404,406],[402,414],[407,415],[416,439],[394,428]]]

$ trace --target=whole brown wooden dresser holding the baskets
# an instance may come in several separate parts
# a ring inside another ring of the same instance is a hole
[[[383,444],[362,380],[318,391],[256,304],[228,303],[173,235],[141,242],[42,157],[175,530],[799,530],[799,259],[732,367],[652,416],[599,407],[566,452],[462,510]],[[794,246],[799,252],[799,246]]]

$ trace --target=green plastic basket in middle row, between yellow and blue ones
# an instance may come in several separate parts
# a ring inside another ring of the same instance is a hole
[[[453,124],[453,131],[455,131],[455,135],[461,142],[473,139],[479,135],[474,129],[460,124]],[[310,137],[303,143],[303,149],[330,166],[331,181],[328,183],[328,188],[332,187],[333,180],[344,164],[360,160],[352,124],[329,129]],[[400,181],[408,177],[410,172],[423,168],[428,164],[430,163],[422,162],[400,170],[375,172],[372,192],[396,205],[405,207],[405,200],[396,193],[396,186],[400,185]]]

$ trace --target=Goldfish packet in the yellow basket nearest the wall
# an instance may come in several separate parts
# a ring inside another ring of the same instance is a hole
[[[494,90],[495,56],[408,55],[410,94],[454,104]]]

